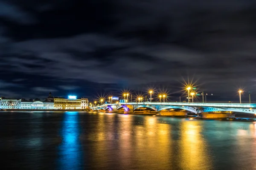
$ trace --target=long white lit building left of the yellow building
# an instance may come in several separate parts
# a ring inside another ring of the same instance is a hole
[[[35,110],[44,110],[44,109],[54,109],[53,102],[21,102],[21,109],[35,109]]]

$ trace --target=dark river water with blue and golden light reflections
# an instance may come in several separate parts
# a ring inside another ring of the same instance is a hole
[[[256,122],[0,112],[1,169],[253,170]]]

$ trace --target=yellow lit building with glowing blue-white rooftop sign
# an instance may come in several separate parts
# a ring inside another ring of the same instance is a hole
[[[68,99],[55,97],[54,109],[81,109],[81,99],[76,96],[68,96]]]

